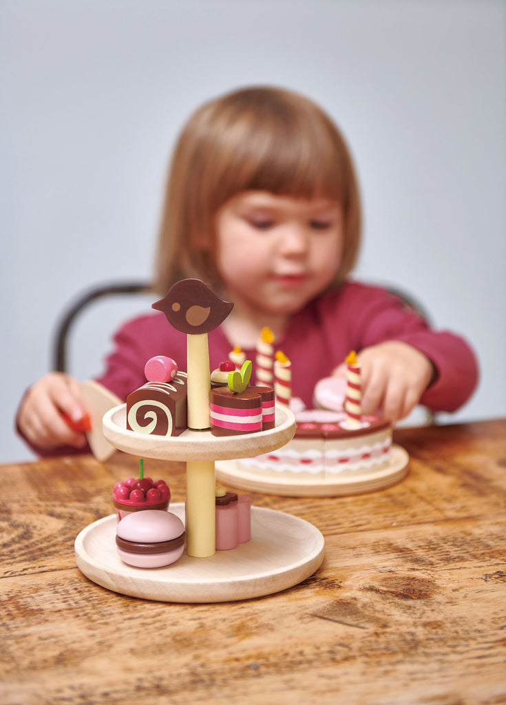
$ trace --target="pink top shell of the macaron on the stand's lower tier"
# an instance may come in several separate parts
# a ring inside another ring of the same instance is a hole
[[[185,527],[179,517],[172,512],[147,509],[134,512],[118,524],[118,537],[139,544],[158,544],[171,541],[183,534]]]

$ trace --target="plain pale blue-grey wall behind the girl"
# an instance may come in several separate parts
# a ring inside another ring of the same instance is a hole
[[[250,83],[309,94],[350,142],[357,276],[406,288],[474,345],[479,389],[443,422],[505,415],[504,1],[1,0],[0,13],[2,461],[32,458],[13,415],[50,368],[61,309],[92,283],[149,277],[183,121]],[[133,312],[82,318],[73,374],[101,369]]]

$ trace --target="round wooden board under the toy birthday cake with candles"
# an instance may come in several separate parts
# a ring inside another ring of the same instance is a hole
[[[216,479],[235,488],[250,492],[264,492],[286,497],[339,497],[362,492],[374,492],[400,482],[408,472],[409,455],[401,446],[392,446],[390,465],[360,477],[333,477],[331,479],[297,479],[292,473],[279,473],[279,476],[257,475],[254,470],[237,470],[234,461],[216,462]],[[254,467],[254,458],[251,459]]]

